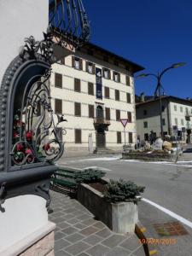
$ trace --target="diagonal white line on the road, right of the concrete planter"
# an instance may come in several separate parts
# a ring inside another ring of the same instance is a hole
[[[152,205],[153,207],[158,208],[160,211],[165,212],[166,214],[168,214],[172,218],[176,218],[178,221],[180,221],[181,223],[187,225],[189,228],[192,229],[192,222],[190,222],[188,219],[183,218],[182,216],[176,214],[175,212],[172,212],[172,211],[166,209],[165,207],[160,207],[160,205],[158,205],[158,204],[154,203],[153,201],[150,201],[146,198],[142,198],[142,201],[145,201],[149,205]]]

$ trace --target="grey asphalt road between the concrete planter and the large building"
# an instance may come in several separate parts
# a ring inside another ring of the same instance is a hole
[[[63,158],[60,164],[84,168],[98,166],[108,178],[124,178],[146,187],[143,197],[160,207],[176,213],[192,224],[192,163],[169,165],[164,163],[130,162],[118,156]],[[191,167],[190,167],[191,165]],[[139,218],[151,237],[158,237],[153,224],[176,221],[175,218],[142,201],[139,203]],[[158,255],[192,255],[192,226],[184,225],[188,236],[177,236],[174,246],[159,246]]]

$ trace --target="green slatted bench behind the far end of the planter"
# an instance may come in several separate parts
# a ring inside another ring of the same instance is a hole
[[[80,171],[77,168],[71,168],[67,166],[58,166],[58,170],[52,175],[50,179],[51,187],[61,186],[69,190],[77,188],[75,181],[75,172]]]

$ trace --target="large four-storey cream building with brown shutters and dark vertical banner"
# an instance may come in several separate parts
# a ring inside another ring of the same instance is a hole
[[[133,74],[143,67],[94,44],[52,66],[50,89],[55,113],[63,114],[67,131],[61,135],[66,151],[93,152],[96,148],[122,149],[136,143]]]

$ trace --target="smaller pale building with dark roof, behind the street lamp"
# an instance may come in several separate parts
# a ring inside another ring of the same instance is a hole
[[[174,136],[176,130],[183,142],[190,143],[192,122],[192,101],[174,96],[162,96],[162,123],[164,136]],[[159,98],[137,102],[137,135],[148,140],[151,131],[160,137]]]

